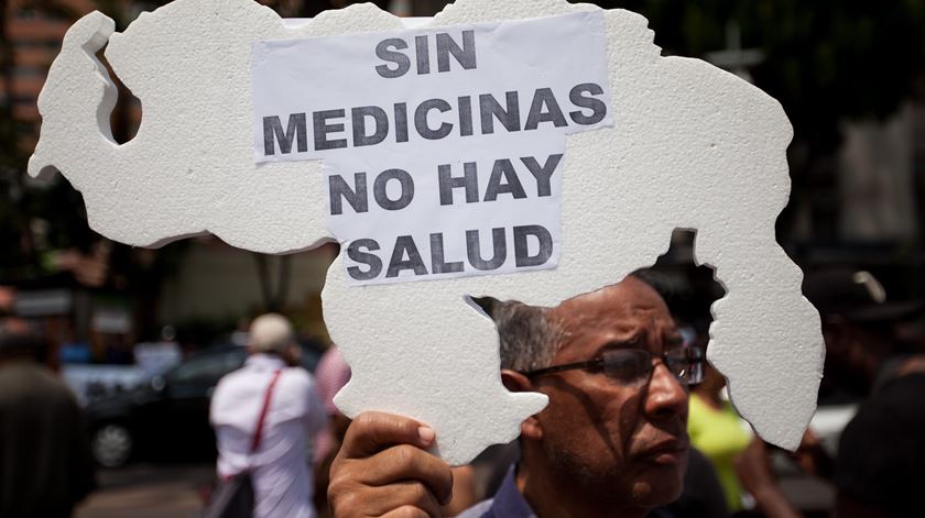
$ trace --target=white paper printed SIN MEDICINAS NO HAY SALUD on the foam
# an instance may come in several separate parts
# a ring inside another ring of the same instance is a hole
[[[324,161],[351,284],[553,268],[605,52],[599,11],[255,43],[255,161]]]

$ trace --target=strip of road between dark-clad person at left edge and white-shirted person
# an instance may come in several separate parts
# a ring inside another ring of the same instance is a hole
[[[200,491],[215,476],[213,464],[135,464],[100,470],[100,487],[77,509],[76,518],[194,518]]]

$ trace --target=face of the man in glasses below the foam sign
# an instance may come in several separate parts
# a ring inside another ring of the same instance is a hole
[[[634,277],[567,300],[549,319],[564,335],[552,365],[614,348],[661,353],[682,345],[665,302]],[[555,476],[614,504],[656,507],[677,498],[687,465],[687,388],[653,362],[649,383],[635,387],[586,370],[534,379],[549,396],[536,419]]]

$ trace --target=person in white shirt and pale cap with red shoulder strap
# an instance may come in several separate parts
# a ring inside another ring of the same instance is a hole
[[[300,364],[301,349],[284,317],[268,313],[254,319],[244,365],[222,377],[209,409],[218,443],[218,476],[251,473],[254,517],[314,518],[313,481],[307,438],[326,425],[315,381]],[[251,441],[272,387],[262,436]]]

